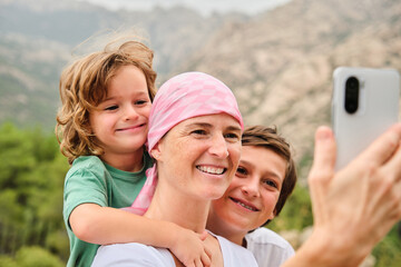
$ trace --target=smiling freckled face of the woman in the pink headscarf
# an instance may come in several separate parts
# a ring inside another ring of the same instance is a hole
[[[182,194],[207,199],[221,197],[239,159],[239,125],[226,113],[195,117],[178,123],[151,152],[157,167],[165,170],[166,179],[160,180],[159,187],[170,182],[177,190],[184,190]]]

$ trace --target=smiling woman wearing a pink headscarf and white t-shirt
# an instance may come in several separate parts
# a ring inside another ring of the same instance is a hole
[[[223,82],[202,72],[168,80],[149,116],[148,151],[156,166],[133,208],[203,234],[211,201],[223,196],[236,171],[242,130],[235,97]],[[205,244],[204,258],[213,266],[257,266],[248,250],[223,237],[207,235]],[[190,266],[208,265],[204,258]],[[133,243],[101,247],[92,266],[127,265],[183,266],[166,248]]]

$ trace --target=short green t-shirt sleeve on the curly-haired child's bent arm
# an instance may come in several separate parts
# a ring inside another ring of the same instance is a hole
[[[108,206],[106,177],[90,169],[77,169],[68,175],[63,190],[63,217],[69,225],[71,211],[79,205],[91,202]]]

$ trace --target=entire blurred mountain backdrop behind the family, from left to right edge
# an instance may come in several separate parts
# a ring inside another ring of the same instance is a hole
[[[58,77],[74,47],[95,32],[131,26],[146,32],[156,52],[158,83],[187,70],[218,77],[236,95],[246,123],[276,125],[304,168],[314,130],[330,125],[333,70],[401,71],[398,0],[293,0],[252,18],[0,0],[0,122],[52,126]]]

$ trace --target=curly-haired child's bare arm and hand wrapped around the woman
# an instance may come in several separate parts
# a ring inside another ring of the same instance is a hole
[[[87,243],[140,243],[170,249],[185,266],[199,260],[205,266],[211,263],[203,244],[205,236],[169,221],[150,219],[96,204],[82,204],[72,210],[69,222],[74,234]]]

